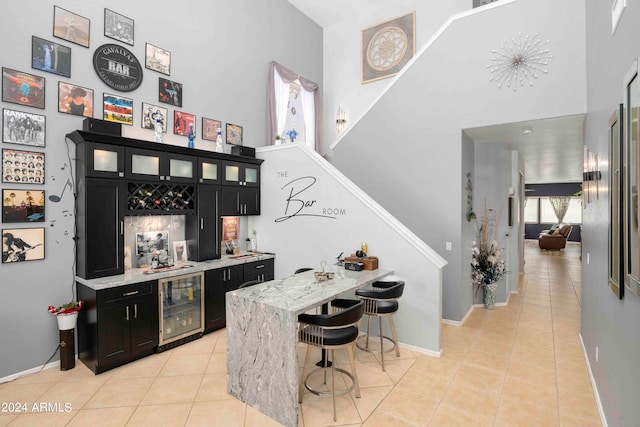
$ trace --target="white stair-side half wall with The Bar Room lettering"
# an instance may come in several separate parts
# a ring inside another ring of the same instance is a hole
[[[388,212],[348,181],[319,154],[300,144],[260,148],[260,216],[250,217],[258,249],[275,252],[275,275],[301,267],[330,268],[336,256],[354,253],[362,242],[379,268],[405,281],[395,315],[398,339],[433,354],[440,352],[442,267],[446,262]],[[330,286],[327,283],[326,286]]]

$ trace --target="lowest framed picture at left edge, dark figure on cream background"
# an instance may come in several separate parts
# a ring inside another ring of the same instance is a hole
[[[44,227],[3,228],[2,263],[44,259]]]

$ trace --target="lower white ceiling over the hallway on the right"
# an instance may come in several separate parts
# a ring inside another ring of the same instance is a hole
[[[505,144],[524,160],[526,184],[581,182],[584,115],[465,129],[476,143]],[[524,134],[530,127],[532,132]]]

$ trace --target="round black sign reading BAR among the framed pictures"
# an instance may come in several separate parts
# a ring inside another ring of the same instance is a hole
[[[142,83],[142,66],[129,50],[117,44],[105,44],[93,54],[93,68],[110,88],[131,92]]]

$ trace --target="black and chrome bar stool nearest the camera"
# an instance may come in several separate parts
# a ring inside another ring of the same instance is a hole
[[[336,306],[337,310],[331,314],[301,314],[298,316],[299,321],[299,337],[300,341],[308,344],[307,353],[304,359],[304,367],[302,368],[302,376],[300,377],[300,389],[298,391],[298,402],[302,403],[304,388],[313,394],[328,394],[326,391],[313,389],[307,383],[308,378],[317,370],[322,369],[326,373],[327,369],[331,369],[331,396],[333,398],[333,421],[336,418],[336,394],[346,394],[355,388],[356,397],[360,397],[360,386],[358,384],[358,374],[356,372],[355,359],[353,357],[353,346],[358,338],[358,324],[362,318],[364,303],[359,300],[340,299]],[[311,356],[311,348],[317,347],[322,350],[331,351],[331,360],[334,359],[334,350],[346,348],[349,355],[349,363],[351,364],[351,372],[344,369],[336,368],[335,363],[328,367],[325,359],[325,366],[317,368],[307,375],[309,366],[309,358]],[[345,374],[351,378],[352,384],[343,390],[336,392],[335,371]]]

